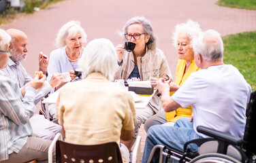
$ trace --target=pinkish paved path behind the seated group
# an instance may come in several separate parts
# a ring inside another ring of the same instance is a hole
[[[198,22],[203,30],[214,29],[221,35],[256,31],[256,11],[220,7],[215,2],[216,0],[67,0],[0,27],[16,28],[27,33],[29,54],[22,65],[33,75],[38,69],[39,52],[50,55],[55,49],[57,31],[65,22],[80,20],[89,41],[103,37],[110,39],[116,46],[123,43],[117,31],[121,31],[125,22],[133,16],[145,16],[153,24],[159,38],[159,48],[165,53],[175,77],[178,58],[171,37],[176,24],[191,19]],[[146,138],[143,126],[140,135],[143,150]]]

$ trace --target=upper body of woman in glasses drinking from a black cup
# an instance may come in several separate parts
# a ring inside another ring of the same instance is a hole
[[[143,16],[131,18],[121,35],[125,41],[131,41],[136,46],[132,52],[127,52],[123,44],[116,46],[119,67],[115,79],[137,77],[145,81],[150,73],[157,72],[159,77],[172,80],[165,55],[157,48],[157,37],[149,20]]]

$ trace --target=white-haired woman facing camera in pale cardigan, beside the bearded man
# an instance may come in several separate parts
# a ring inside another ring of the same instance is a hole
[[[84,55],[83,43],[86,42],[86,38],[86,33],[77,20],[71,20],[61,26],[56,38],[56,46],[58,49],[50,53],[47,69],[48,81],[54,73],[69,72],[71,80],[76,77],[75,70],[80,68],[78,60]],[[67,82],[61,82],[55,90],[58,90],[66,83]],[[53,118],[53,122],[57,122],[54,104],[49,105],[49,113],[50,117]]]

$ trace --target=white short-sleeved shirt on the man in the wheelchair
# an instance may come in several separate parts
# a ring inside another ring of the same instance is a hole
[[[184,108],[192,105],[195,132],[205,126],[241,139],[250,96],[251,86],[238,69],[219,65],[192,73],[172,99]]]

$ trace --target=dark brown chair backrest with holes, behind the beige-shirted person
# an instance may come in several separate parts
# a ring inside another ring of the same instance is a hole
[[[122,163],[120,149],[116,142],[99,145],[76,145],[57,141],[57,162]]]

